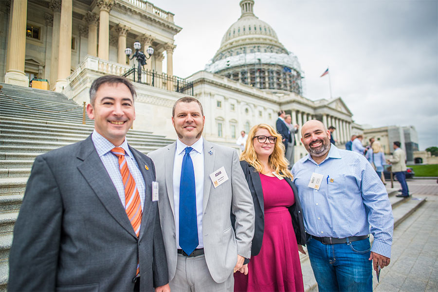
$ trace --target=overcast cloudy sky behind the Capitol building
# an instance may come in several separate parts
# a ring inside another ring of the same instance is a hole
[[[239,0],[151,0],[175,14],[174,74],[204,69]],[[420,150],[438,145],[437,0],[255,0],[304,71],[304,97],[341,97],[353,120],[373,127],[413,125]],[[165,68],[165,67],[164,67]]]

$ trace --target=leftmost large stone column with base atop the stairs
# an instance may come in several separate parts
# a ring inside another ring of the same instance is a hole
[[[27,0],[15,0],[12,4],[12,21],[10,45],[6,52],[8,70],[4,82],[19,86],[29,86],[29,78],[24,74],[24,59],[26,57],[26,20]]]

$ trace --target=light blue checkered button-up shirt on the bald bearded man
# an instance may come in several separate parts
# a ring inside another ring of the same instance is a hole
[[[312,172],[322,174],[319,190],[308,187]],[[372,252],[391,257],[394,217],[388,193],[363,155],[331,144],[319,165],[307,155],[293,165],[306,232],[346,238],[371,233]]]

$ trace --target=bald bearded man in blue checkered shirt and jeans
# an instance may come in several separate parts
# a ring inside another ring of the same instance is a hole
[[[318,291],[372,291],[372,267],[387,266],[391,257],[394,218],[386,189],[363,155],[330,143],[322,122],[306,122],[301,137],[309,155],[292,174]]]

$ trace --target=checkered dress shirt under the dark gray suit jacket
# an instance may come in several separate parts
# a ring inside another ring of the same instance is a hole
[[[117,190],[123,207],[125,207],[125,187],[123,186],[122,174],[120,173],[119,169],[119,160],[116,155],[112,154],[111,149],[113,149],[114,147],[122,147],[125,150],[125,159],[128,163],[129,172],[131,172],[131,175],[135,180],[135,185],[140,195],[140,201],[142,203],[141,205],[143,210],[146,190],[145,179],[143,178],[143,175],[138,168],[137,161],[129,150],[126,138],[122,145],[114,146],[110,141],[108,141],[105,137],[103,137],[102,135],[97,133],[96,130],[94,130],[91,134],[91,140],[93,141],[94,147],[96,148],[100,160],[102,161],[105,169],[110,175],[111,181]]]

